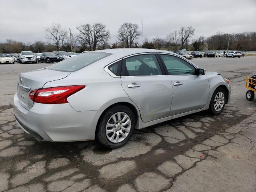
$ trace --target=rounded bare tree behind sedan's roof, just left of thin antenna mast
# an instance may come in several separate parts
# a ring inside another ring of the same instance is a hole
[[[139,26],[135,23],[123,23],[118,29],[118,40],[121,42],[126,42],[127,48],[131,48],[133,44],[136,44],[140,36],[138,31]]]

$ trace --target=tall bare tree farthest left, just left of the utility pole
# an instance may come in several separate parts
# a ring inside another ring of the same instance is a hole
[[[53,23],[51,27],[45,29],[46,38],[49,40],[49,44],[55,46],[57,50],[60,49],[60,45],[65,44],[68,32],[61,27],[60,24]]]

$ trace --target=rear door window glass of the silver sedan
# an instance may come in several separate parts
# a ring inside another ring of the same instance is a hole
[[[124,59],[125,76],[162,75],[155,54],[138,55]]]

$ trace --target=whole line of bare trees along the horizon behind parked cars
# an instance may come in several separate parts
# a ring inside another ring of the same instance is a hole
[[[156,36],[149,40],[143,39],[142,48],[175,50],[186,48],[190,51],[196,50],[256,50],[256,32],[243,32],[238,34],[227,34],[217,32],[205,38],[200,36],[192,39],[195,28],[182,26],[174,30],[166,37]],[[7,39],[0,43],[0,52],[18,53],[22,50],[32,52],[52,52],[57,50],[82,52],[93,51],[104,48],[139,48],[138,40],[141,36],[138,24],[125,22],[117,31],[116,41],[110,43],[110,30],[102,23],[83,24],[76,27],[76,33],[66,30],[60,24],[53,23],[45,29],[46,41],[34,43],[22,43]]]

